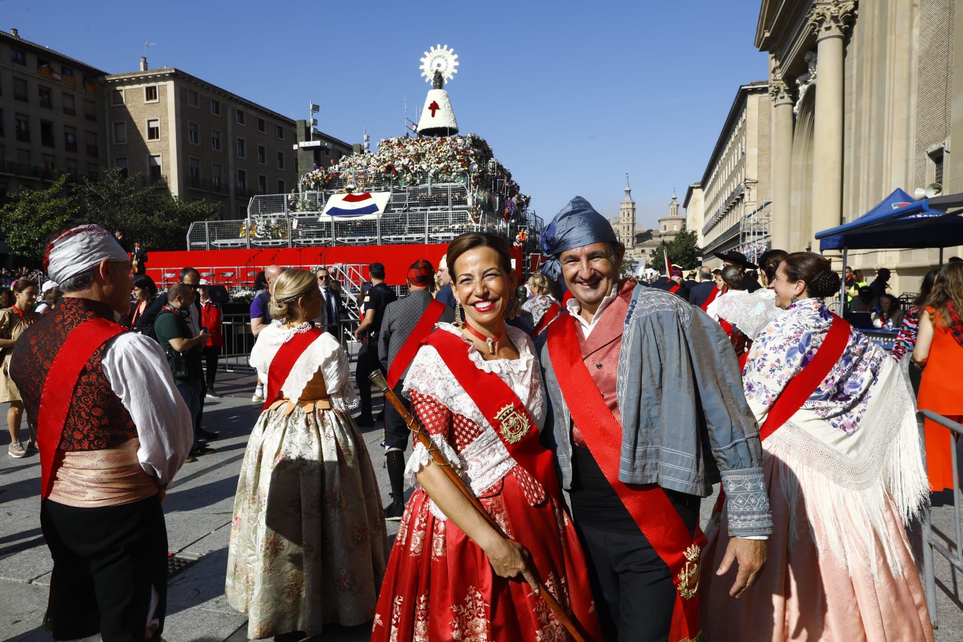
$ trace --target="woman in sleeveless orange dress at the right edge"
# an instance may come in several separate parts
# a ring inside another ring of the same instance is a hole
[[[913,362],[923,368],[917,407],[932,410],[955,422],[963,419],[963,263],[940,269],[920,313]],[[956,440],[946,428],[926,420],[926,469],[929,489],[953,487],[952,453]]]

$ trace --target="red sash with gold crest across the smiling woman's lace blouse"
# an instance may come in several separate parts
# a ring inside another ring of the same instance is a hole
[[[508,454],[538,480],[560,506],[559,477],[555,455],[538,441],[538,426],[515,392],[495,372],[484,372],[468,358],[470,346],[451,332],[432,332],[425,343],[438,350],[455,380],[495,428]]]

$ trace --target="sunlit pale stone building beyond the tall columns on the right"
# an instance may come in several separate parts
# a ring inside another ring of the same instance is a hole
[[[768,82],[742,85],[701,180],[686,192],[686,225],[698,236],[705,265],[721,265],[716,252],[738,249],[751,260],[765,251],[771,199],[770,112]]]

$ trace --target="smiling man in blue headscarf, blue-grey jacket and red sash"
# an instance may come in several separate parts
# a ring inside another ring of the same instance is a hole
[[[543,440],[569,492],[606,639],[700,639],[698,510],[720,473],[732,536],[720,571],[738,562],[734,594],[766,559],[766,543],[750,538],[772,530],[736,357],[701,310],[619,280],[625,248],[584,198],[560,211],[541,246],[573,295],[541,348]]]

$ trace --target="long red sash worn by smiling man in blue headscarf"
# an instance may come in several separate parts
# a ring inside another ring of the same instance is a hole
[[[627,484],[618,478],[622,449],[622,426],[597,391],[579,349],[575,320],[571,315],[552,323],[548,348],[562,396],[572,421],[586,439],[586,446],[612,490],[622,501],[638,528],[672,574],[676,587],[669,642],[694,640],[699,625],[699,553],[706,537],[696,525],[690,535],[679,512],[658,484]]]

